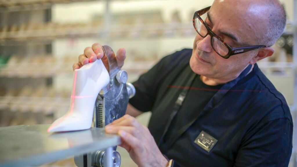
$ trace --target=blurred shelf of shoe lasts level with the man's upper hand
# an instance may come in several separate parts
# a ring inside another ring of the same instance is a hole
[[[0,77],[7,78],[48,78],[58,75],[73,75],[72,65],[77,57],[57,59],[55,56],[12,56],[7,64],[0,64]],[[126,61],[123,70],[128,73],[144,73],[155,61]]]

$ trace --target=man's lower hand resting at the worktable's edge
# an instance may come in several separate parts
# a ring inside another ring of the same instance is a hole
[[[160,152],[149,129],[141,125],[134,117],[124,115],[105,126],[106,133],[121,136],[119,145],[129,152],[132,160],[139,167],[165,167],[168,163]]]

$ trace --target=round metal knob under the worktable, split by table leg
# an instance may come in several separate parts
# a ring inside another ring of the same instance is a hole
[[[113,151],[112,153],[112,165],[113,167],[120,167],[121,165],[121,155],[119,154],[119,152],[117,151]],[[106,166],[105,163],[104,163],[104,160],[105,160],[105,150],[100,150],[97,152],[97,155],[96,155],[96,159],[95,159],[95,165],[97,167],[104,167]]]

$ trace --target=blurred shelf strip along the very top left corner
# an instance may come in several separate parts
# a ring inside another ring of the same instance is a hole
[[[49,9],[53,4],[95,0],[0,0],[0,12]]]

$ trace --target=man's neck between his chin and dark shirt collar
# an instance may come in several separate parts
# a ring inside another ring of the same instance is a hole
[[[247,65],[248,67],[249,65]],[[237,75],[235,76],[231,76],[231,77],[228,77],[228,78],[208,78],[204,75],[200,75],[200,79],[203,83],[205,83],[206,85],[210,85],[210,86],[216,86],[216,85],[221,85],[221,84],[224,84],[224,83],[227,83],[229,81],[232,81],[234,79],[236,79],[247,67],[245,67],[240,73],[238,73]],[[252,65],[252,68],[249,70],[249,72],[247,73],[247,75],[252,72],[254,68],[254,64]]]

